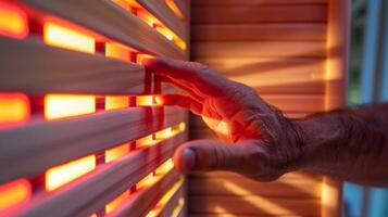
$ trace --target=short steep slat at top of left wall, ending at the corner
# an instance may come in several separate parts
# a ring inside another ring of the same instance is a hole
[[[137,2],[150,11],[164,25],[179,36],[180,39],[187,41],[188,33],[185,21],[175,15],[164,0],[137,0]]]

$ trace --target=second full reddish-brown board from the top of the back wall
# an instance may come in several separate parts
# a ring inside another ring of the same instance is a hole
[[[325,24],[208,24],[192,25],[193,41],[326,40]]]

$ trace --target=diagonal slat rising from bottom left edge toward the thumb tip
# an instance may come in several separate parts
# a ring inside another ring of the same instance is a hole
[[[105,204],[170,158],[184,140],[185,137],[178,135],[151,148],[133,151],[59,191],[37,195],[28,207],[12,215],[88,216],[104,208]]]

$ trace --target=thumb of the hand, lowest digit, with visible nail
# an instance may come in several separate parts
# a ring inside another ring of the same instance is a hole
[[[189,171],[236,170],[246,157],[243,145],[212,140],[195,140],[180,145],[174,154],[175,167]]]

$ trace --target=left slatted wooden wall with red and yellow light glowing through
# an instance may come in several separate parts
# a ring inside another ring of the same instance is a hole
[[[172,2],[0,1],[0,216],[186,216],[187,111],[141,65],[188,60]]]

